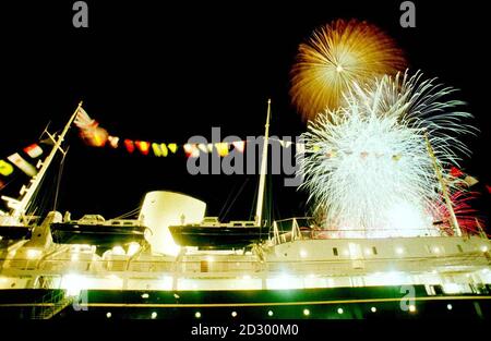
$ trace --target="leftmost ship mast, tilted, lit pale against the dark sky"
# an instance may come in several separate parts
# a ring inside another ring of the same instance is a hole
[[[64,136],[67,135],[70,126],[72,125],[73,121],[75,120],[81,107],[82,107],[82,101],[79,103],[79,106],[76,107],[72,117],[70,118],[69,122],[64,126],[61,134],[58,135],[58,137],[46,132],[49,135],[49,138],[55,143],[55,145],[53,145],[51,151],[49,153],[49,155],[46,157],[45,161],[41,163],[41,168],[39,169],[37,174],[34,175],[33,179],[31,179],[29,185],[27,187],[23,186],[21,188],[21,195],[24,195],[22,197],[22,199],[16,200],[11,197],[2,196],[2,199],[4,199],[8,203],[9,207],[12,208],[12,212],[10,216],[12,217],[14,224],[16,224],[16,226],[23,224],[23,222],[24,222],[23,220],[25,219],[25,214],[27,211],[27,207],[31,204],[31,200],[32,200],[34,194],[36,193],[36,190],[38,188],[39,184],[41,183],[43,178],[45,176],[46,171],[48,170],[57,151],[60,150],[63,155],[65,154],[65,151],[61,148],[61,144],[63,143]]]

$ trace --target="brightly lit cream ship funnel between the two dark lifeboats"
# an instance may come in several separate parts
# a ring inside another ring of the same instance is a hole
[[[189,195],[155,191],[145,195],[139,220],[152,231],[147,240],[153,252],[177,255],[179,246],[170,234],[169,226],[200,223],[205,210],[204,202]]]

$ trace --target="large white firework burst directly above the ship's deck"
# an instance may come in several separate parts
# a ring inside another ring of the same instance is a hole
[[[457,138],[474,133],[454,89],[421,73],[384,76],[345,94],[347,105],[309,122],[302,134],[302,187],[324,223],[352,236],[419,235],[435,229],[441,184],[426,137],[442,171],[469,150]],[[444,172],[448,186],[458,187]],[[346,235],[346,234],[345,234]]]

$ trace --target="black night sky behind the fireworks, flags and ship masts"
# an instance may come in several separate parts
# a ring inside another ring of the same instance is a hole
[[[272,134],[299,135],[306,125],[288,95],[298,45],[319,25],[355,17],[392,36],[411,70],[460,89],[457,97],[481,131],[468,141],[474,154],[463,169],[481,181],[477,207],[489,211],[490,22],[480,2],[415,1],[416,28],[400,27],[402,1],[86,1],[88,28],[72,26],[74,1],[52,2],[0,8],[0,159],[36,142],[49,121],[61,129],[81,99],[111,135],[183,144],[192,135],[211,138],[212,126],[223,136],[262,135],[271,97]],[[75,219],[118,216],[154,190],[193,195],[207,203],[208,215],[226,220],[251,214],[255,175],[193,176],[182,153],[164,159],[91,148],[76,130],[68,141],[59,210]],[[274,217],[303,216],[307,195],[273,178]],[[225,216],[224,205],[244,182]],[[12,183],[2,193],[17,190]]]

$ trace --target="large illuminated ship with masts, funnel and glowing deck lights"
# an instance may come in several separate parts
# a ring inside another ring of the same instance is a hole
[[[134,220],[72,220],[58,211],[32,219],[28,203],[53,156],[65,153],[76,112],[52,135],[52,150],[21,198],[7,198],[2,318],[491,317],[491,242],[483,230],[448,234],[415,227],[407,236],[363,238],[309,217],[268,223],[262,218],[264,161],[251,221],[219,222],[205,216],[206,203],[167,191],[147,193]]]

